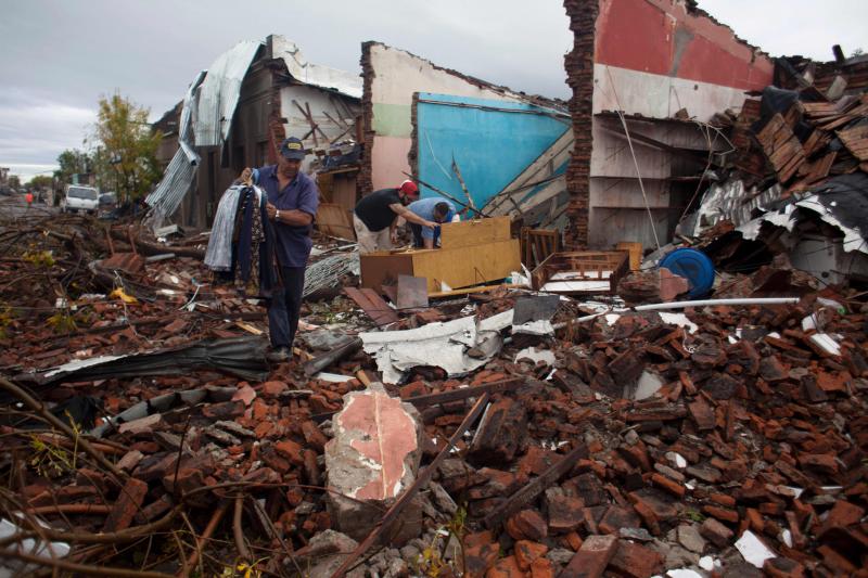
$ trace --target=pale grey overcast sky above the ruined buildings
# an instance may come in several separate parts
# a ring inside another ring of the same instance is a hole
[[[24,180],[81,147],[101,95],[157,118],[239,40],[277,33],[318,64],[357,72],[379,40],[516,90],[566,98],[572,36],[560,0],[7,0],[0,18],[0,166]],[[699,0],[771,55],[868,50],[868,0]]]

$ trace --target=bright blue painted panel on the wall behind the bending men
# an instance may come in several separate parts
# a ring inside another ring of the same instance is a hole
[[[571,129],[569,116],[553,118],[531,104],[427,92],[421,92],[419,101],[419,178],[464,201],[451,168],[455,158],[480,208]],[[564,164],[558,174],[565,170]],[[427,187],[421,191],[423,197],[439,196]]]

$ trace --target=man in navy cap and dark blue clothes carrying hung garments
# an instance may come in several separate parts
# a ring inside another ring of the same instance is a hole
[[[305,267],[310,256],[310,230],[319,206],[314,180],[302,172],[305,150],[302,141],[290,137],[280,146],[277,165],[245,168],[241,180],[253,180],[268,194],[266,211],[273,223],[275,255],[280,265],[282,286],[276,287],[268,306],[271,361],[292,357],[292,343],[298,329]]]

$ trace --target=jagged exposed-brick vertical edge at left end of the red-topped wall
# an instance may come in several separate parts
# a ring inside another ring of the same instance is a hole
[[[566,84],[573,90],[570,114],[573,116],[575,145],[566,169],[570,222],[564,243],[570,248],[588,244],[588,209],[590,204],[590,154],[593,123],[593,46],[599,4],[596,0],[564,0],[574,35],[573,50],[564,56]]]

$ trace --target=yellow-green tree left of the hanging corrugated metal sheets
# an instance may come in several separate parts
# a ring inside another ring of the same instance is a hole
[[[150,192],[159,179],[156,149],[163,134],[152,131],[149,110],[118,93],[100,99],[93,155],[102,188],[112,187],[124,200]]]

